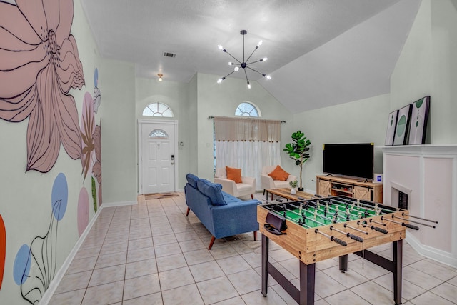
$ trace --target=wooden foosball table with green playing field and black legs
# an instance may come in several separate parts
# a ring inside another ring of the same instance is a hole
[[[262,234],[263,296],[267,294],[270,274],[298,304],[314,304],[316,262],[339,256],[339,269],[346,272],[348,254],[353,253],[393,273],[393,301],[401,304],[406,228],[419,229],[411,223],[435,227],[410,218],[431,221],[411,216],[405,209],[348,196],[266,201],[257,207]],[[300,260],[299,289],[268,261],[269,239]],[[393,244],[392,260],[366,250],[386,243]]]

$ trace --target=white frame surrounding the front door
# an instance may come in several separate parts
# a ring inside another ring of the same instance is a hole
[[[174,191],[178,186],[178,166],[179,166],[179,157],[177,154],[178,147],[178,121],[177,120],[154,120],[154,119],[139,119],[138,120],[138,194],[143,194],[143,141],[141,139],[141,130],[143,124],[172,124],[174,125]]]

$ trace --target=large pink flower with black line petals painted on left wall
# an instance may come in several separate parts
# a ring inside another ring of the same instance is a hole
[[[82,158],[78,111],[71,88],[84,74],[74,36],[73,0],[0,1],[0,118],[29,118],[27,166],[48,172],[60,145]]]

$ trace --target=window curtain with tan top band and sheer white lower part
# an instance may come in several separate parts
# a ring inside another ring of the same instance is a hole
[[[216,168],[241,169],[243,176],[256,177],[261,189],[262,167],[281,161],[281,121],[216,116],[214,131]]]

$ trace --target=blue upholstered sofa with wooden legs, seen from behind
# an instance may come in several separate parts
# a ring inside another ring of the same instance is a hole
[[[209,250],[216,239],[236,234],[253,232],[254,240],[257,240],[258,200],[238,199],[222,191],[221,184],[199,179],[194,174],[187,174],[186,179],[186,216],[189,216],[189,211],[192,210],[211,232]]]

